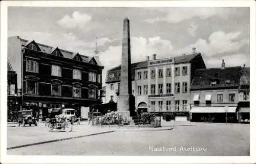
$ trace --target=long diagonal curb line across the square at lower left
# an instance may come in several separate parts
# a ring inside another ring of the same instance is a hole
[[[112,132],[115,132],[115,130],[106,131],[106,132],[100,132],[100,133],[87,134],[87,135],[80,135],[80,136],[69,137],[69,138],[60,138],[60,139],[46,140],[46,141],[44,141],[44,142],[39,142],[39,143],[32,143],[32,144],[26,144],[26,145],[19,145],[19,146],[9,147],[9,148],[7,148],[7,150],[17,149],[17,148],[23,148],[23,147],[33,146],[33,145],[41,145],[41,144],[59,142],[59,141],[61,141],[61,140],[69,140],[69,139],[75,139],[75,138],[82,138],[82,137],[87,137],[87,136],[92,136],[92,135],[98,135],[98,134],[104,134],[104,133],[112,133]]]

